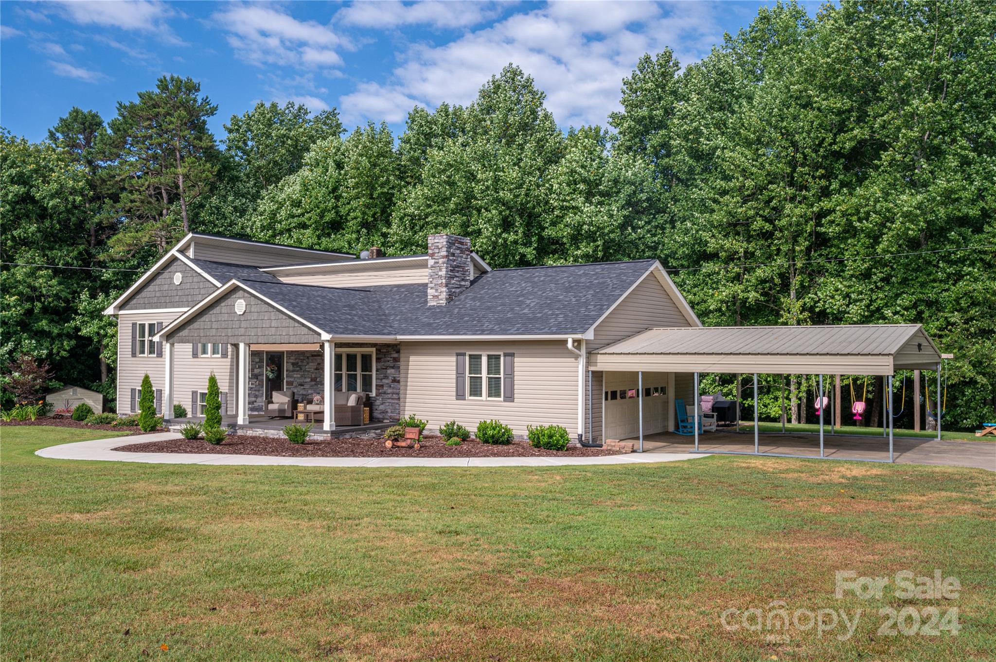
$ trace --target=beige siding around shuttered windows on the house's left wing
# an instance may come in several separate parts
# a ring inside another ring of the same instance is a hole
[[[152,388],[162,388],[165,384],[166,359],[164,356],[132,356],[131,324],[161,322],[163,326],[172,322],[178,314],[160,313],[149,315],[123,315],[118,320],[118,413],[131,414],[130,389],[140,389],[141,379],[148,373]],[[204,340],[208,341],[207,338]],[[173,402],[179,402],[190,411],[190,391],[207,390],[207,378],[214,370],[218,378],[218,388],[228,393],[228,411],[235,409],[235,347],[229,347],[228,358],[193,358],[189,342],[173,345]],[[172,412],[165,412],[168,417]]]

